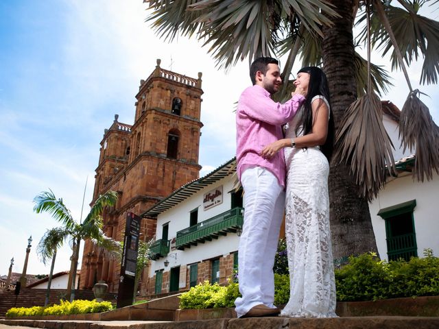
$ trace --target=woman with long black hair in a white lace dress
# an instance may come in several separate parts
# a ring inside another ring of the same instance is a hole
[[[302,107],[285,127],[285,137],[266,146],[271,158],[285,148],[285,222],[290,276],[285,317],[336,317],[335,279],[329,230],[329,159],[334,125],[326,75],[316,66],[298,72]]]

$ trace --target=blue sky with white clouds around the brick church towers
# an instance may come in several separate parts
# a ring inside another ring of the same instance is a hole
[[[139,81],[162,67],[197,77],[203,73],[202,173],[235,153],[234,103],[248,85],[248,63],[228,73],[194,40],[158,40],[145,23],[146,5],[137,1],[0,1],[0,274],[23,269],[27,238],[32,252],[27,273],[48,273],[35,247],[45,230],[57,226],[32,211],[32,199],[51,188],[80,219],[93,193],[99,142],[114,114],[132,124]],[[433,17],[437,19],[437,17]],[[380,64],[388,59],[377,58]],[[415,88],[420,64],[410,68]],[[397,88],[383,97],[402,107],[408,89],[401,73]],[[436,123],[436,86],[421,86]],[[57,256],[56,271],[69,268],[71,250]]]

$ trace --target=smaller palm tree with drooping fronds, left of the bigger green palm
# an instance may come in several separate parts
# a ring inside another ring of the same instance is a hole
[[[67,239],[69,235],[69,232],[64,228],[52,228],[51,230],[47,230],[45,232],[40,242],[36,246],[36,252],[44,265],[46,265],[47,260],[52,260],[50,266],[49,280],[47,281],[47,292],[44,306],[47,306],[47,304],[49,304],[50,286],[52,282],[52,276],[54,275],[56,252],[62,246],[62,243],[64,243],[64,240]]]

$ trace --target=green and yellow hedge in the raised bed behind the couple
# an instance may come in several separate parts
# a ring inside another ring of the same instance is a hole
[[[286,256],[286,255],[281,255]],[[363,301],[395,297],[439,295],[439,258],[426,249],[425,258],[387,263],[376,254],[349,257],[348,264],[335,270],[337,300]],[[226,287],[205,281],[180,296],[180,308],[233,307],[239,297],[237,282]],[[274,273],[274,304],[289,300],[289,276]]]

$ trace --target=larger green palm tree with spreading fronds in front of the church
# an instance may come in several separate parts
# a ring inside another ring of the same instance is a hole
[[[64,205],[62,199],[57,199],[51,190],[49,190],[49,192],[42,192],[34,197],[34,211],[36,213],[49,212],[49,214],[51,214],[56,221],[62,223],[62,227],[58,229],[60,235],[57,239],[51,240],[51,236],[47,235],[47,239],[45,239],[45,241],[47,240],[47,245],[43,243],[43,249],[41,250],[41,254],[43,257],[45,257],[43,259],[46,259],[54,254],[54,251],[56,251],[60,241],[67,238],[67,236],[69,239],[71,239],[73,252],[71,256],[69,282],[67,283],[67,300],[71,299],[72,285],[74,288],[74,274],[76,273],[76,267],[78,264],[81,240],[91,239],[93,243],[104,246],[106,249],[119,249],[119,244],[116,241],[106,237],[104,232],[102,232],[102,226],[104,225],[102,221],[102,212],[104,212],[105,207],[114,206],[116,201],[117,192],[115,191],[107,191],[103,195],[99,195],[93,206],[91,206],[90,212],[84,221],[82,223],[78,223],[75,221],[75,219],[73,219],[70,210]],[[65,237],[61,239],[63,234]],[[45,246],[47,246],[47,248],[44,248]]]

